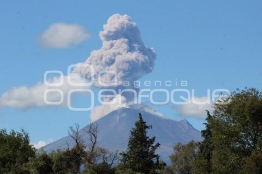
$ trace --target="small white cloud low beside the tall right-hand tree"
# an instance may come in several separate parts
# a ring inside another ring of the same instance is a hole
[[[194,102],[193,102],[194,101]],[[182,117],[196,117],[203,119],[207,117],[206,110],[211,113],[214,111],[212,108],[213,102],[208,97],[192,97],[189,104],[181,105],[178,108]]]

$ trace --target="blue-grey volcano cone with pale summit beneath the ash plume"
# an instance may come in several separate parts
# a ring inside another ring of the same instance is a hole
[[[190,140],[201,140],[200,132],[185,119],[175,121],[144,105],[131,105],[129,108],[112,111],[94,122],[99,127],[98,146],[111,151],[124,151],[127,148],[130,130],[138,120],[138,113],[142,113],[147,125],[153,126],[148,130],[148,135],[155,136],[156,142],[161,144],[156,152],[166,162],[169,161],[169,155],[173,152],[173,146],[177,142],[187,143]],[[88,135],[84,131],[86,127],[80,129],[79,132],[84,143],[88,144]],[[67,148],[67,142],[71,147],[74,145],[72,138],[65,136],[47,144],[43,150],[51,152],[58,148]]]

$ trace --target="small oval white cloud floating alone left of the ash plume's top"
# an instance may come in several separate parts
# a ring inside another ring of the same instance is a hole
[[[78,24],[66,24],[63,22],[52,24],[43,32],[39,40],[42,46],[51,48],[67,48],[77,45],[89,38],[84,27]]]

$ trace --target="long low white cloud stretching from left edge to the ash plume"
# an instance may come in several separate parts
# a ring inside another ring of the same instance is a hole
[[[72,73],[69,75],[76,83],[84,83],[85,79],[81,78],[78,74]],[[61,81],[61,77],[52,77],[48,79],[51,84],[57,84]],[[77,88],[68,84],[67,76],[63,77],[63,84],[61,86],[47,86],[43,82],[39,82],[33,87],[26,85],[20,87],[13,87],[4,92],[0,97],[0,108],[12,107],[18,109],[29,109],[32,107],[48,107],[57,105],[47,105],[44,101],[44,93],[47,89],[60,89],[63,92],[64,101],[63,106],[67,105],[67,93],[70,89]],[[61,98],[60,93],[50,92],[47,93],[47,101],[56,102]]]

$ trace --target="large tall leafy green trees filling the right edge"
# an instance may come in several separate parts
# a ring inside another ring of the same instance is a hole
[[[246,88],[216,103],[202,136],[196,173],[261,173],[262,93]]]

